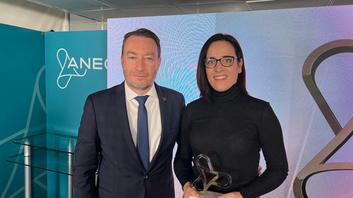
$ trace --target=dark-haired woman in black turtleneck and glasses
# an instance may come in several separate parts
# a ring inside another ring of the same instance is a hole
[[[200,173],[191,162],[200,154],[210,157],[216,171],[232,176],[228,188],[208,188],[225,193],[222,198],[256,198],[279,187],[288,175],[281,125],[268,102],[247,93],[243,52],[234,37],[216,34],[206,41],[197,85],[201,98],[184,110],[174,159],[184,198],[198,197],[191,184]],[[261,149],[266,170],[259,176]]]

